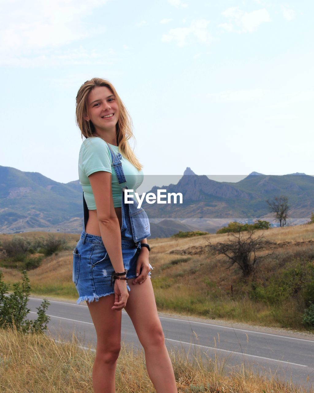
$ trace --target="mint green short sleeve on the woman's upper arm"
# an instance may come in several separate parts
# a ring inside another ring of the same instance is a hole
[[[86,176],[98,171],[111,171],[111,154],[105,141],[100,138],[87,138],[84,141],[82,169]]]

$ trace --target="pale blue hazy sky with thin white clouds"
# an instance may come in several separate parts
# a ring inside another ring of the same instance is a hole
[[[0,165],[78,179],[75,96],[104,77],[144,174],[314,174],[313,12],[310,0],[2,0]]]

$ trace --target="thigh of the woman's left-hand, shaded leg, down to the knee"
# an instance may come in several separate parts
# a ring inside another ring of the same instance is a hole
[[[117,348],[121,342],[121,311],[111,310],[114,295],[103,296],[88,305],[97,334],[97,351]]]

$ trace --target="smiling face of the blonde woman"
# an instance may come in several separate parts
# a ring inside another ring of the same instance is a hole
[[[91,90],[87,99],[86,121],[91,121],[96,132],[116,132],[119,120],[119,106],[108,87],[97,86]]]

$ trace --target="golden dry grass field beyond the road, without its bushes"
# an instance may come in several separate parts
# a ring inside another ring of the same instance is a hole
[[[235,266],[226,269],[225,258],[208,253],[208,241],[225,241],[227,234],[151,239],[150,263],[155,268],[152,283],[157,307],[164,312],[183,315],[304,330],[299,316],[302,305],[298,299],[289,298],[278,307],[254,301],[248,294],[252,281],[261,283],[283,268],[296,266],[305,260],[313,264],[313,232],[314,224],[257,231],[256,235],[264,233],[265,240],[273,242],[272,248],[277,256],[263,261],[254,277],[248,279],[243,279]],[[21,235],[37,237],[47,234],[29,232]],[[58,233],[56,236],[66,237],[70,249],[46,257],[41,266],[28,272],[31,290],[35,295],[76,300],[71,251],[79,235]],[[0,241],[9,237],[12,235],[0,235]],[[265,249],[261,253],[268,252]],[[16,269],[0,269],[7,283],[22,277]]]

